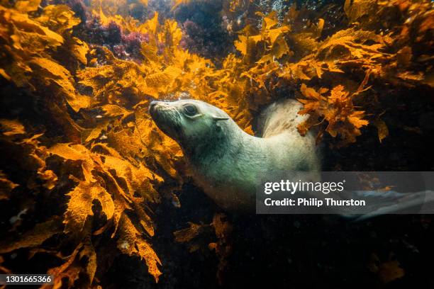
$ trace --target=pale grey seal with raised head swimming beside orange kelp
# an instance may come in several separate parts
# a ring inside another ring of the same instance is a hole
[[[149,113],[187,158],[194,181],[225,210],[254,208],[261,176],[271,171],[319,171],[315,137],[296,126],[301,103],[273,103],[260,115],[260,137],[244,132],[220,108],[203,101],[152,101]]]

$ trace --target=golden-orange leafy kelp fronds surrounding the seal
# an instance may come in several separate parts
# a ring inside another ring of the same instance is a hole
[[[175,1],[171,13],[192,2]],[[343,29],[333,26],[328,35],[331,20],[304,7],[277,13],[253,1],[223,1],[222,23],[236,39],[219,64],[182,48],[182,29],[167,11],[138,19],[126,1],[91,1],[79,17],[67,5],[11,3],[0,6],[0,75],[29,102],[43,103],[45,123],[25,115],[0,120],[2,150],[23,171],[0,170],[0,201],[19,208],[0,253],[53,256],[60,264],[46,269],[55,288],[99,285],[96,276],[113,261],[101,253],[108,250],[143,260],[155,281],[161,275],[152,208],[162,198],[182,205],[174,191],[185,169],[178,145],[152,123],[150,101],[207,101],[253,134],[262,108],[293,97],[309,116],[301,135],[318,128],[318,142],[326,132],[348,146],[372,125],[379,142],[387,137],[387,108],[370,96],[379,86],[433,86],[430,1],[347,0]],[[152,10],[148,1],[134,5]],[[106,35],[116,41],[104,43]],[[31,222],[44,202],[56,210]],[[231,230],[221,219],[211,224],[218,241],[209,244],[219,272]],[[201,230],[191,223],[175,237],[190,242]]]

